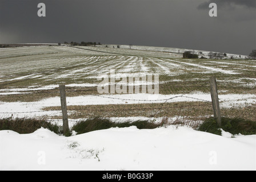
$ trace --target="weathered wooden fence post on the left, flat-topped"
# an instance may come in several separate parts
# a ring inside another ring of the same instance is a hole
[[[59,92],[61,94],[61,110],[62,110],[62,120],[63,120],[63,134],[69,133],[69,121],[67,119],[67,101],[65,85],[59,85]]]

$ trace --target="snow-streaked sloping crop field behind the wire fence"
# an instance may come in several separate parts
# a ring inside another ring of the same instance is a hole
[[[51,98],[58,97],[58,85],[65,84],[67,97],[70,98],[70,118],[99,115],[105,117],[178,115],[198,119],[212,114],[211,105],[207,105],[209,103],[206,101],[210,101],[209,78],[214,75],[217,77],[220,97],[223,98],[220,100],[223,115],[256,121],[255,60],[182,59],[179,51],[182,50],[174,48],[168,52],[168,49],[152,47],[139,50],[125,46],[123,48],[122,46],[121,48],[112,46],[2,48],[0,49],[0,113],[2,113],[0,117],[14,113],[18,117],[45,115],[49,118],[60,118],[58,101],[45,106],[43,104],[38,106],[38,103],[44,100],[46,103]],[[186,94],[184,96],[187,96],[187,100],[130,103],[133,98],[138,100],[138,95],[130,94],[130,100],[127,101],[120,100],[119,103],[105,101],[96,96],[97,86],[101,82],[97,77],[109,75],[110,69],[115,69],[115,74],[120,77],[157,73],[160,95],[155,98],[161,98],[162,95],[171,97],[176,94]],[[89,96],[95,100],[87,103]],[[71,101],[71,98],[75,100],[83,97],[85,101],[82,103],[81,100],[77,104]],[[197,100],[189,97],[196,97]],[[139,108],[146,109],[139,110]],[[31,114],[29,111],[42,111],[42,113]]]

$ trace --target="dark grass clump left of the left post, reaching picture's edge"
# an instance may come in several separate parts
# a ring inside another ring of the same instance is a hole
[[[56,134],[61,134],[60,127],[45,121],[45,119],[34,118],[3,118],[0,119],[0,130],[13,130],[19,134],[33,133],[41,127],[49,129]]]

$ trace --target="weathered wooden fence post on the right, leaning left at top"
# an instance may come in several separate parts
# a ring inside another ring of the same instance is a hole
[[[211,101],[213,102],[214,118],[217,119],[217,123],[219,127],[221,127],[221,109],[219,109],[217,82],[214,76],[210,78],[210,85],[211,85]]]

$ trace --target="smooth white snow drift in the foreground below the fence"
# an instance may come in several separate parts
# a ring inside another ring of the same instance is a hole
[[[131,126],[63,137],[0,131],[0,170],[255,170],[256,135]]]

